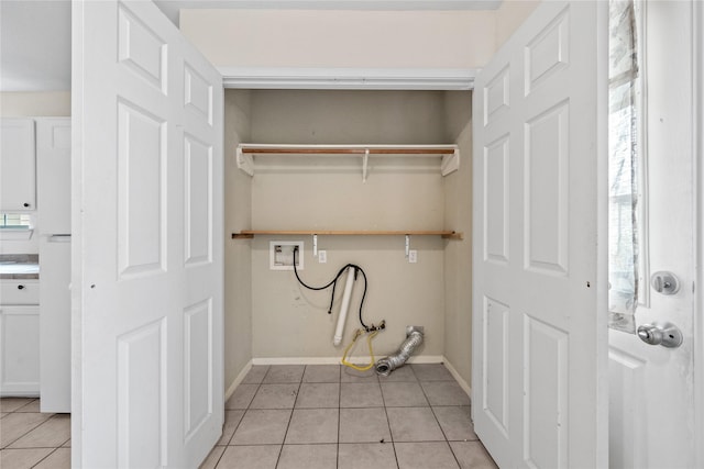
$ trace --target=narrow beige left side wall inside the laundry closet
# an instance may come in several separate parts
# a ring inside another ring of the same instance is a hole
[[[237,168],[234,148],[250,139],[250,92],[224,93],[224,383],[252,359],[252,247],[230,233],[252,224],[251,179]]]

